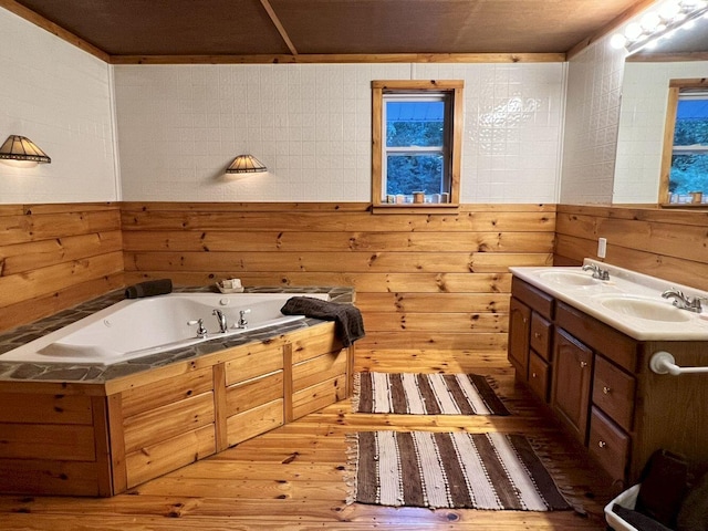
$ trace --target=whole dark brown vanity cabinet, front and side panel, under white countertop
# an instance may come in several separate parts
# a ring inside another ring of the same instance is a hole
[[[510,316],[508,351],[517,379],[586,447],[614,488],[637,482],[657,449],[684,456],[696,476],[708,471],[708,375],[671,376],[649,367],[660,351],[679,366],[707,366],[706,341],[631,337],[516,271],[511,302],[520,309]],[[550,400],[543,378],[550,381]]]

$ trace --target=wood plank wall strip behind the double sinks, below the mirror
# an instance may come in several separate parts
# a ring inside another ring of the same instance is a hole
[[[708,290],[708,211],[558,207],[556,266],[595,257],[597,238],[607,239],[608,263]]]

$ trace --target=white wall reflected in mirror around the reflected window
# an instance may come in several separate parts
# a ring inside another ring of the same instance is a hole
[[[624,72],[614,200],[656,202],[668,82],[705,77],[708,61],[627,63]]]

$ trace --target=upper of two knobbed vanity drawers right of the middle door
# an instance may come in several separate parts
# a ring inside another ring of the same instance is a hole
[[[627,431],[632,430],[635,379],[602,356],[595,360],[593,403]]]

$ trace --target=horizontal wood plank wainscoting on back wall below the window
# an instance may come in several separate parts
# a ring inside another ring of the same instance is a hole
[[[555,206],[465,205],[375,215],[371,205],[125,202],[126,282],[347,285],[365,348],[504,352],[510,266],[550,266]]]

